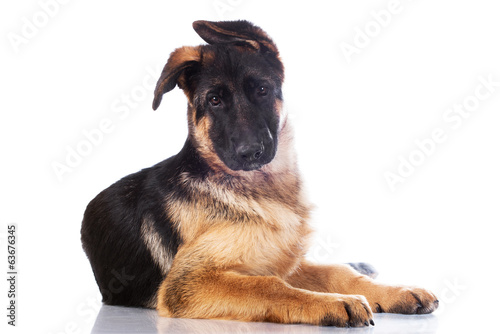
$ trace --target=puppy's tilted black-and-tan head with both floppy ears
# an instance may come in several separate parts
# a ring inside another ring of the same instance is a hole
[[[189,138],[211,166],[251,171],[276,155],[284,78],[278,49],[247,21],[193,23],[208,45],[170,55],[153,109],[176,85],[188,98]]]

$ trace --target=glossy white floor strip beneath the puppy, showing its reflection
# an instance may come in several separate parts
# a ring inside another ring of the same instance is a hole
[[[376,314],[375,326],[335,328],[223,320],[171,319],[155,310],[103,306],[92,329],[101,333],[437,333],[438,317]]]

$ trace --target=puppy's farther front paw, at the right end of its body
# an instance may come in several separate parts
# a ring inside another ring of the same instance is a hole
[[[439,306],[436,296],[425,289],[416,287],[390,287],[373,305],[377,313],[428,314]]]

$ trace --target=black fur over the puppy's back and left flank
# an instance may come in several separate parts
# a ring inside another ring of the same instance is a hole
[[[207,170],[187,141],[176,156],[124,177],[89,203],[82,223],[82,243],[104,303],[151,305],[164,275],[141,240],[142,220],[148,215],[153,218],[173,258],[181,240],[166,217],[164,199],[175,193],[187,200],[189,194],[182,193],[176,183],[179,174],[188,172],[203,178]]]

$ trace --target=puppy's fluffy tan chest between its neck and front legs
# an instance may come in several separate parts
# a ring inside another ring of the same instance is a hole
[[[196,256],[249,275],[286,276],[304,255],[310,230],[301,205],[213,189],[205,200],[171,204],[170,217]]]

